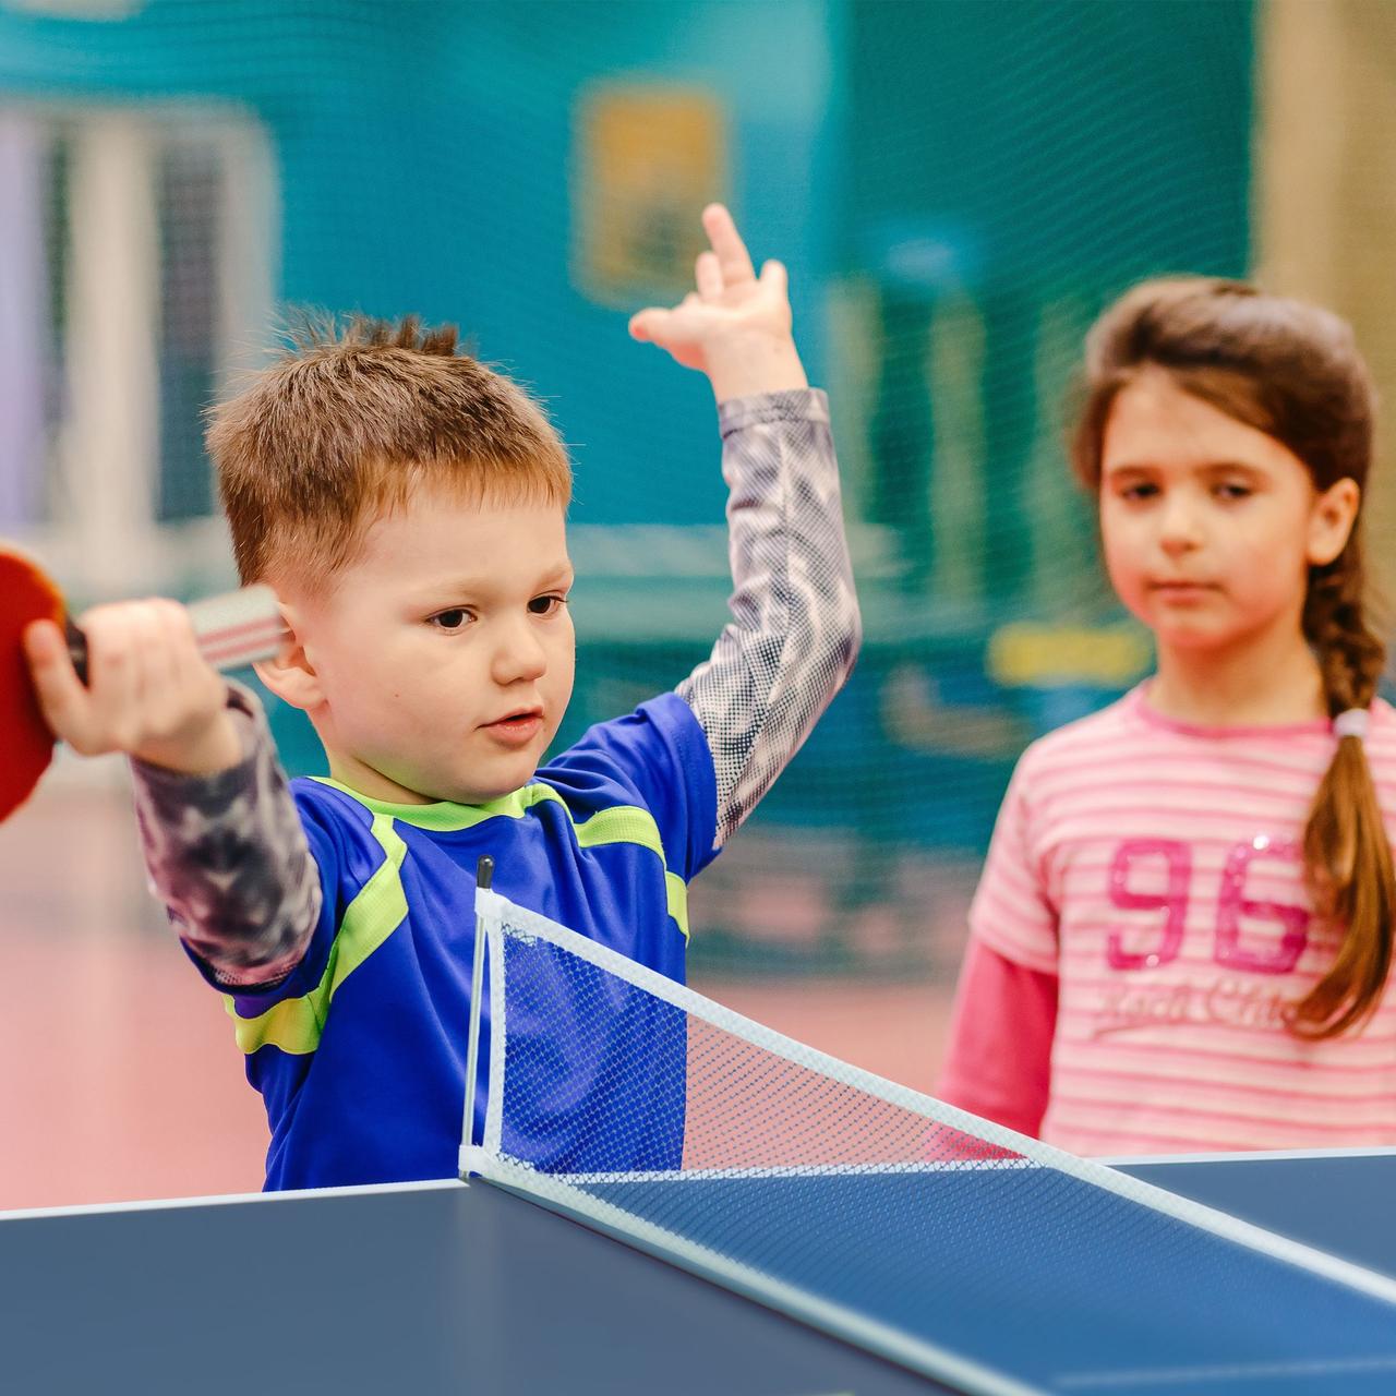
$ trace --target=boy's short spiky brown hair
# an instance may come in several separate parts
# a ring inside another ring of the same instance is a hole
[[[454,325],[307,325],[209,415],[208,450],[244,582],[328,578],[419,484],[473,500],[571,498],[542,408],[459,353]]]

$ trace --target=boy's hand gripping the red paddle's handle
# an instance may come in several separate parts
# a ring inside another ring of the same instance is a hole
[[[40,620],[24,632],[39,708],[56,737],[82,755],[124,751],[188,775],[237,765],[242,743],[228,715],[228,688],[200,655],[183,606],[98,606],[81,625],[87,684],[57,625]]]

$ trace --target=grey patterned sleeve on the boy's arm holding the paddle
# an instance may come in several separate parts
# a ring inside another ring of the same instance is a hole
[[[269,988],[300,962],[320,872],[261,705],[228,685],[243,759],[212,776],[131,762],[151,891],[226,988]]]

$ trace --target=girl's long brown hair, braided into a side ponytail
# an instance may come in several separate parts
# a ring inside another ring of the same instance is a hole
[[[1356,480],[1365,497],[1372,387],[1353,332],[1329,311],[1234,281],[1150,281],[1122,296],[1086,339],[1085,401],[1072,461],[1099,496],[1115,395],[1146,369],[1256,427],[1304,462],[1316,490]],[[1347,546],[1311,567],[1304,635],[1323,676],[1329,716],[1367,708],[1386,646],[1365,611],[1361,517]],[[1328,974],[1293,1009],[1305,1037],[1335,1037],[1375,1011],[1392,960],[1396,870],[1362,743],[1343,737],[1304,829],[1304,871],[1319,916],[1344,927]]]

